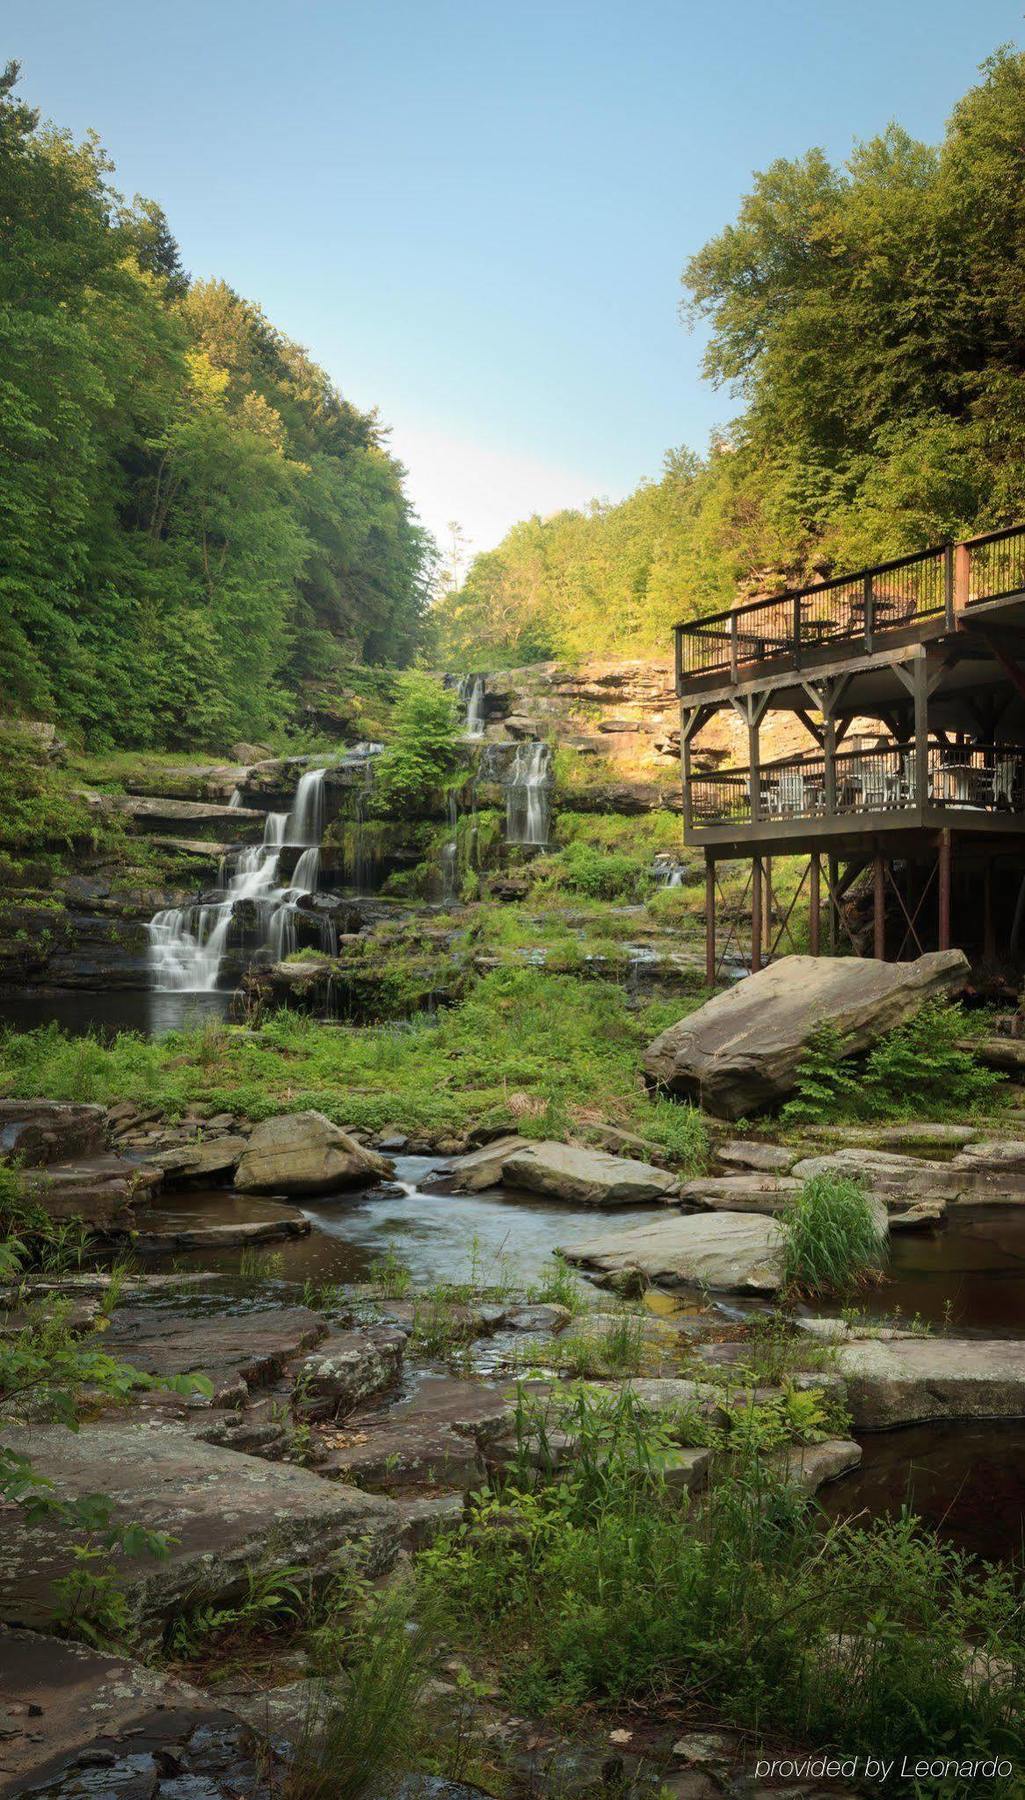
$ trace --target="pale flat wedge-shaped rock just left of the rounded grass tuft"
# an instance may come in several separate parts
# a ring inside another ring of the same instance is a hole
[[[782,1233],[755,1213],[670,1215],[630,1231],[603,1231],[562,1246],[567,1262],[602,1274],[636,1271],[663,1287],[722,1294],[775,1294],[782,1278]]]

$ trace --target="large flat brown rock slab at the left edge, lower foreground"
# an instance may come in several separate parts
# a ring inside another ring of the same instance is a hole
[[[245,1591],[252,1566],[297,1566],[324,1580],[339,1555],[366,1548],[373,1573],[391,1564],[398,1546],[400,1519],[389,1501],[308,1469],[204,1444],[171,1424],[34,1426],[5,1440],[32,1456],[58,1498],[108,1494],[117,1519],[171,1535],[166,1561],[119,1559],[132,1615],[150,1634],[182,1607]],[[52,1584],[74,1564],[72,1541],[56,1525],[5,1521],[5,1624],[45,1627],[52,1620]]]

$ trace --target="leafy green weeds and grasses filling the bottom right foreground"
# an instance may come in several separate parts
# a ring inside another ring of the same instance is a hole
[[[546,1429],[524,1409],[506,1485],[420,1557],[432,1613],[517,1712],[672,1699],[847,1753],[1025,1750],[1011,1571],[910,1517],[823,1532],[749,1445],[688,1505],[629,1391],[578,1397],[575,1454],[539,1487]]]

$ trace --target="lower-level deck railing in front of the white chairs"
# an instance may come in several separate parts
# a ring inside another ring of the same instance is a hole
[[[908,812],[919,805],[913,745],[838,751],[832,799],[821,752],[758,770],[757,823]],[[930,743],[926,805],[967,812],[1025,812],[1025,749],[1009,743]],[[719,769],[690,778],[695,826],[751,824],[751,772]]]

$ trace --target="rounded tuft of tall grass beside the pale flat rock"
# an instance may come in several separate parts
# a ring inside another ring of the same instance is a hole
[[[879,1274],[884,1229],[861,1181],[812,1175],[780,1213],[784,1289],[848,1296]]]

